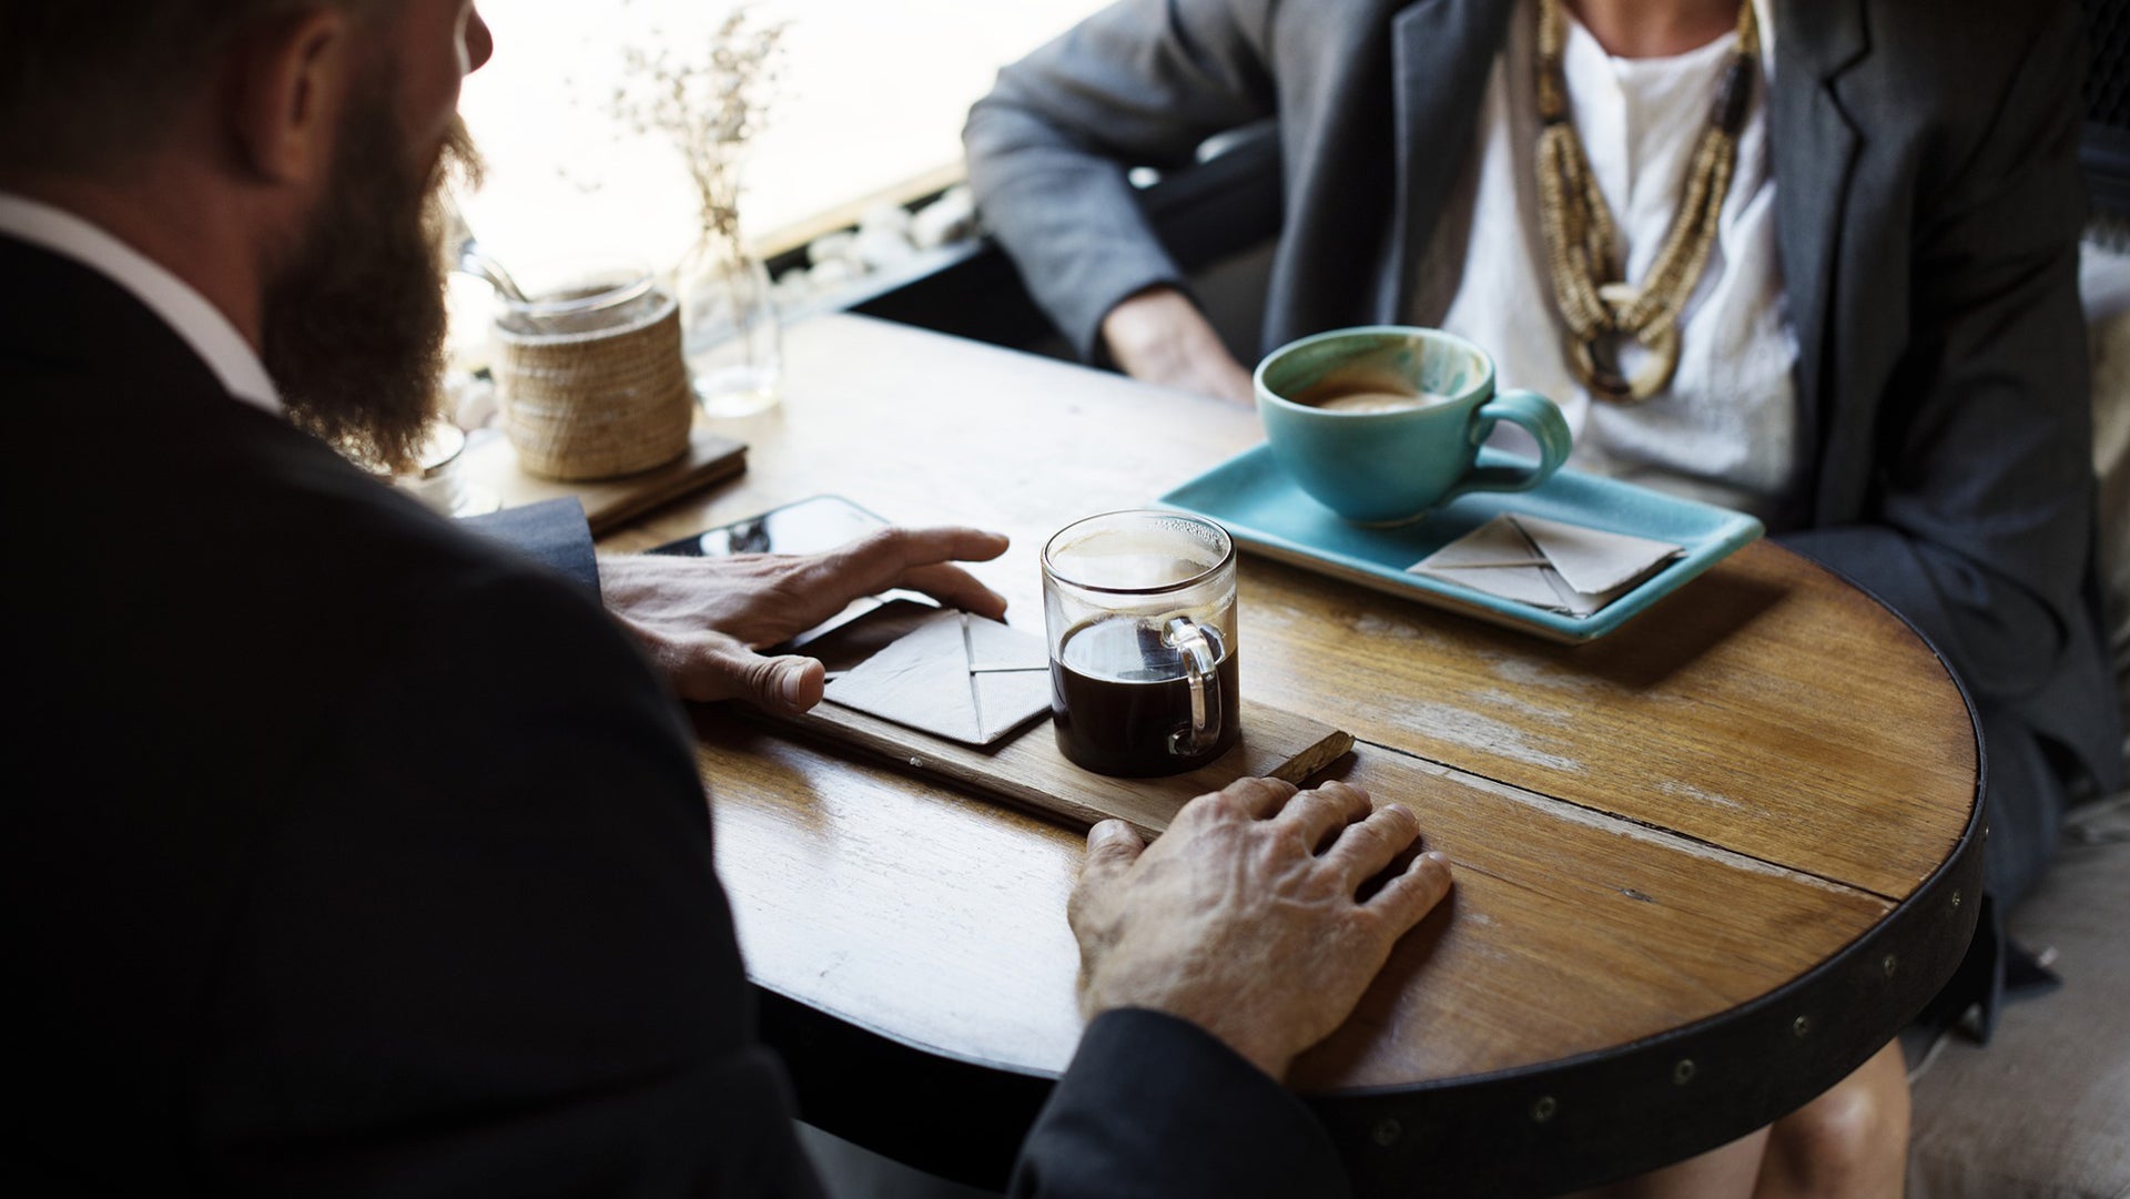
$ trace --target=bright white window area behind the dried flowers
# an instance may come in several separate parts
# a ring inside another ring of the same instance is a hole
[[[763,0],[784,19],[782,83],[743,168],[748,241],[784,249],[824,213],[910,198],[961,162],[969,104],[1001,64],[1103,0]],[[718,0],[490,0],[496,55],[466,81],[460,111],[488,158],[462,202],[505,264],[628,253],[671,266],[697,213],[677,153],[637,136],[607,100],[626,45],[705,53],[731,13]]]

